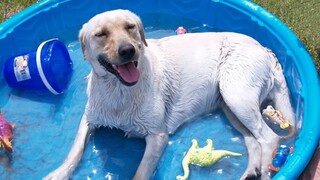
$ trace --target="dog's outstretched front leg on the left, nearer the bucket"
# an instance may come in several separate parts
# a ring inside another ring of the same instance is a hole
[[[72,148],[68,154],[68,157],[65,159],[63,164],[56,169],[55,171],[48,174],[43,179],[45,180],[62,180],[69,179],[69,176],[72,174],[74,169],[77,167],[81,156],[84,151],[87,137],[90,134],[90,129],[87,123],[86,113],[82,116],[80,126],[78,129],[77,136],[74,140]]]

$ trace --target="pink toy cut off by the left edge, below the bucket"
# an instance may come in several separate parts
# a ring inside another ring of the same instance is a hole
[[[14,125],[6,121],[0,112],[0,149],[3,148],[8,153],[13,152],[11,144],[11,141],[13,140],[13,128]]]

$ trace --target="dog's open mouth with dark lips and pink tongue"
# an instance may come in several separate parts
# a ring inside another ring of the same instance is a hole
[[[140,78],[140,72],[137,68],[137,61],[131,61],[121,65],[114,65],[107,62],[103,56],[99,56],[98,61],[107,71],[116,75],[119,80],[127,86],[136,84]]]

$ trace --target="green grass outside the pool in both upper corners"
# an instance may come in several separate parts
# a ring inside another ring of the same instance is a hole
[[[38,0],[0,0],[0,22]],[[320,1],[252,0],[275,14],[305,44],[320,72]]]

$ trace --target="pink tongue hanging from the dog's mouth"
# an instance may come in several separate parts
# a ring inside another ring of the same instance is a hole
[[[116,70],[118,71],[121,78],[127,83],[134,83],[139,80],[140,72],[133,62],[117,66]]]

